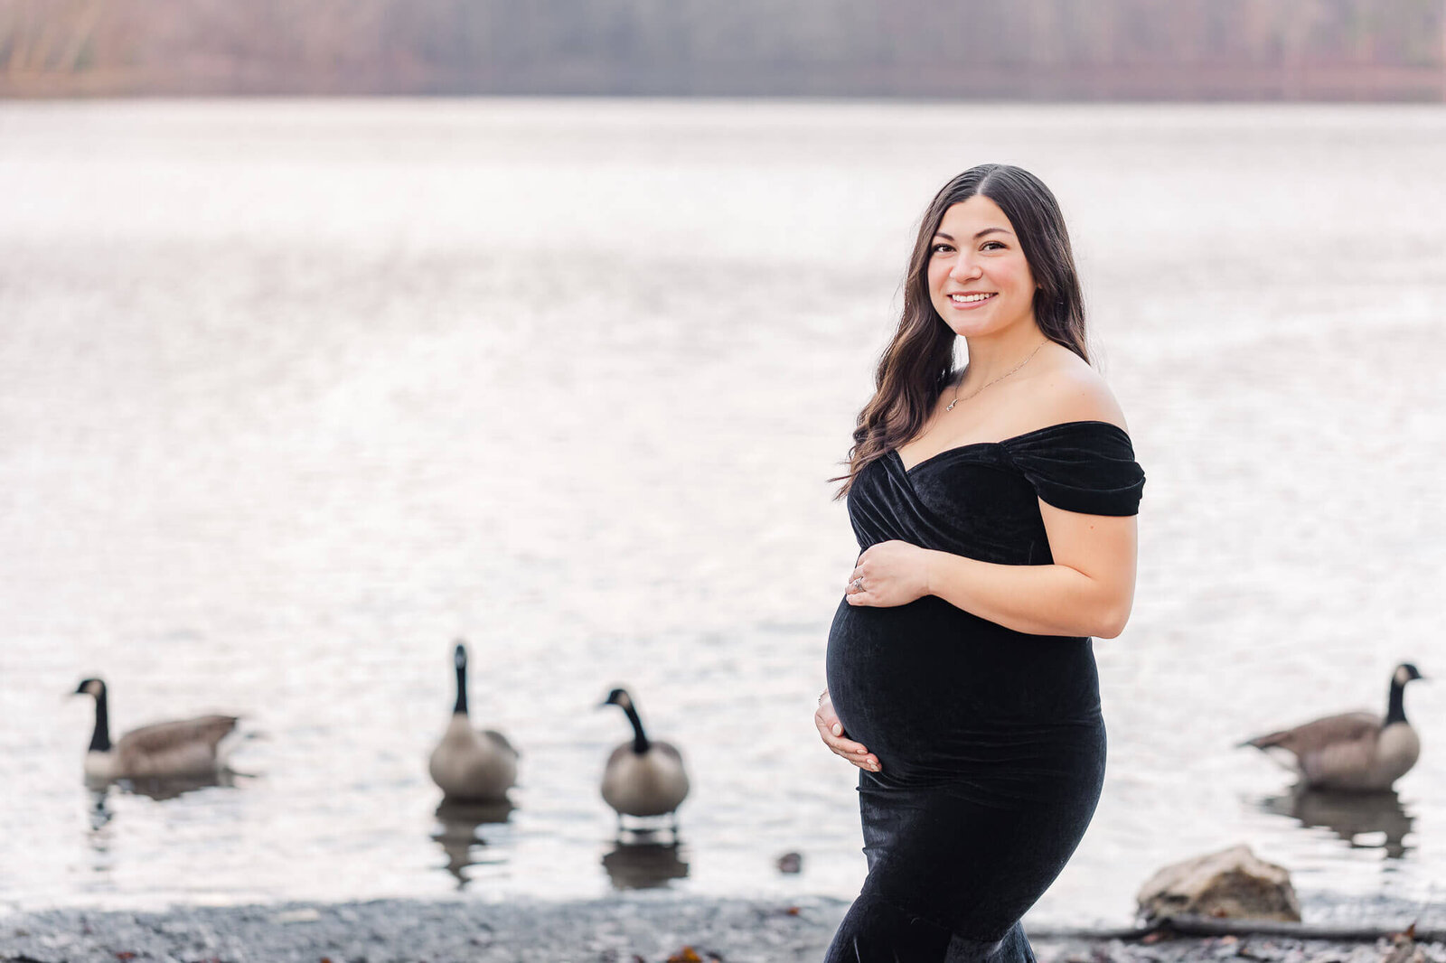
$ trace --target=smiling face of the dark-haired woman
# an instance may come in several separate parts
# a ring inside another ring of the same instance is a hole
[[[954,334],[1034,327],[1034,275],[1014,226],[982,194],[951,205],[934,231],[928,296]]]

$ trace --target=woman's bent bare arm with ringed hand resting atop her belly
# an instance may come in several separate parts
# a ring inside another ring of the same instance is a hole
[[[1135,597],[1134,516],[1080,515],[1040,502],[1053,565],[998,565],[908,542],[879,542],[849,575],[855,606],[901,606],[921,596],[1031,635],[1112,639]]]

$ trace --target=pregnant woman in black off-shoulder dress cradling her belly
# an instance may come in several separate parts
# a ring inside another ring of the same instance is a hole
[[[1032,960],[1019,917],[1099,800],[1090,636],[1129,616],[1144,487],[1034,175],[973,168],[924,213],[840,480],[862,554],[814,722],[860,769],[869,875],[827,960]]]

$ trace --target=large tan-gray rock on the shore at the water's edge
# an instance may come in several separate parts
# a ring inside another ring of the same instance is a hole
[[[1137,899],[1147,923],[1183,914],[1300,923],[1290,873],[1244,844],[1165,866],[1141,886]]]

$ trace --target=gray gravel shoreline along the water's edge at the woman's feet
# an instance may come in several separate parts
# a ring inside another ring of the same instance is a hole
[[[52,910],[0,918],[0,962],[784,963],[820,960],[847,907],[829,898],[791,904],[619,895],[581,902],[379,899],[163,912]],[[1403,917],[1411,910],[1404,904],[1375,908],[1382,912],[1372,915],[1387,928],[1413,918]],[[1388,940],[1245,936],[1142,943],[1044,931],[1031,941],[1040,963],[1381,963],[1394,949]],[[1416,963],[1446,963],[1446,944],[1414,949]]]

